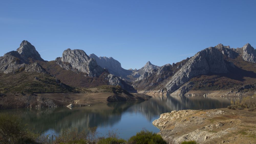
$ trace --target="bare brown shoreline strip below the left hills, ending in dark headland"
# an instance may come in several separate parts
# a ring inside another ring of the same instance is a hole
[[[118,101],[143,101],[151,96],[145,94],[115,94],[110,92],[97,93],[49,93],[49,94],[0,94],[0,109],[11,108],[48,108],[73,104],[88,106],[99,103]]]

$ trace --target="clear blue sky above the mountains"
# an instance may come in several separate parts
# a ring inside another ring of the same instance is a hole
[[[67,49],[122,67],[181,61],[218,43],[256,48],[256,1],[17,0],[0,4],[0,56],[22,40],[44,60]]]

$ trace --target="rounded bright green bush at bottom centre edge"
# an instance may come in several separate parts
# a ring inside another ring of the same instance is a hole
[[[157,144],[166,143],[160,135],[153,133],[152,131],[142,130],[137,132],[135,136],[132,136],[128,143],[141,143],[141,144]]]

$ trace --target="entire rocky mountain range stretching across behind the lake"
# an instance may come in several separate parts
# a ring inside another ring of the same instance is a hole
[[[41,58],[24,40],[0,57],[1,93],[76,92],[77,88],[119,85],[129,92],[180,94],[191,90],[234,90],[256,82],[256,50],[218,44],[193,57],[163,66],[148,61],[141,69],[123,69],[112,57],[67,49],[53,61]],[[241,89],[241,88],[240,88]]]

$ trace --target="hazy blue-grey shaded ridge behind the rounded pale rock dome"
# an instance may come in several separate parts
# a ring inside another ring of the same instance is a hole
[[[125,70],[121,67],[121,63],[112,57],[98,57],[95,54],[90,54],[90,58],[94,58],[98,65],[102,68],[108,69],[109,73],[114,74],[116,76],[126,77],[132,73],[131,70]]]

